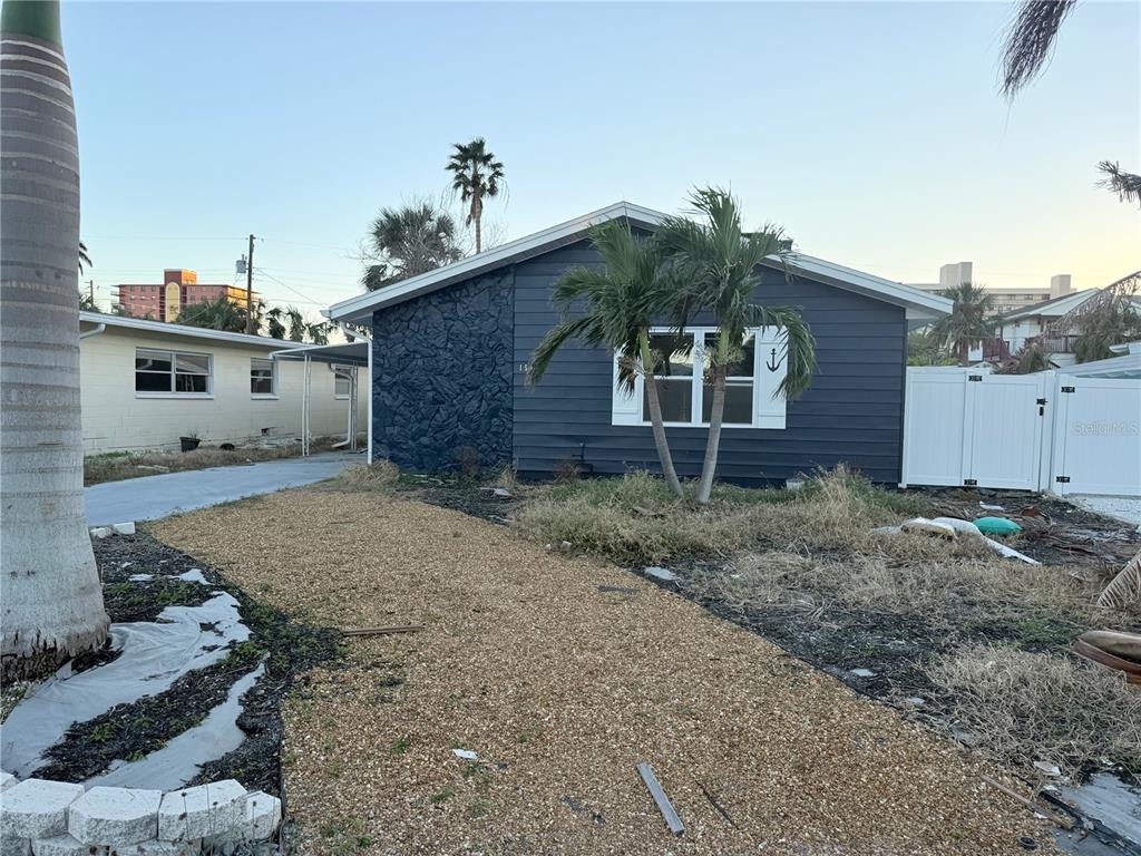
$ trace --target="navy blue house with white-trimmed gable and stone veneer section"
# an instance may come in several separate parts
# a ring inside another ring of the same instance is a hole
[[[527,363],[558,322],[550,297],[559,276],[600,265],[588,228],[624,218],[653,231],[662,217],[621,202],[333,306],[334,321],[372,330],[372,455],[414,471],[476,457],[484,468],[511,463],[533,476],[572,460],[596,474],[657,470],[642,390],[615,388],[613,353],[565,348],[537,386]],[[719,476],[778,482],[843,462],[898,483],[908,325],[946,315],[950,301],[803,255],[792,270],[761,270],[756,299],[800,307],[817,341],[816,375],[795,401],[774,396],[784,372],[779,330],[751,332],[729,382]],[[693,355],[674,354],[661,382],[682,476],[701,470],[701,354],[712,330],[696,320],[687,330]],[[670,353],[661,333],[657,349]]]

